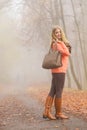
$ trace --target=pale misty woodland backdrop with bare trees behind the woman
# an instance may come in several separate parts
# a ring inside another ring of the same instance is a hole
[[[72,46],[65,86],[87,88],[86,0],[0,0],[1,86],[50,85],[42,61],[56,24]]]

